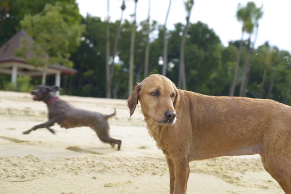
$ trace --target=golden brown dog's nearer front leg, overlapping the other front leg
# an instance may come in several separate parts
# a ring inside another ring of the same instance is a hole
[[[173,194],[186,194],[189,175],[189,162],[181,157],[175,161],[175,186]]]

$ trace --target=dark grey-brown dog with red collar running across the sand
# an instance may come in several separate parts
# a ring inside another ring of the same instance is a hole
[[[116,114],[116,109],[114,108],[114,113],[105,115],[76,108],[55,95],[60,90],[61,88],[58,86],[45,85],[38,85],[32,90],[33,100],[43,101],[48,105],[49,121],[36,125],[32,129],[24,131],[23,134],[29,134],[32,130],[39,128],[47,128],[51,133],[55,134],[55,131],[50,129],[55,123],[65,129],[90,127],[103,143],[108,143],[112,147],[117,144],[117,150],[120,150],[121,140],[113,139],[110,136],[110,128],[107,121],[108,118]]]

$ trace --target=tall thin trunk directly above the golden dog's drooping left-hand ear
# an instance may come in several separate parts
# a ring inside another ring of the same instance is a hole
[[[134,20],[132,24],[132,33],[130,40],[130,53],[129,53],[129,93],[130,96],[133,91],[133,62],[134,62],[134,41],[135,41],[135,26],[136,26],[136,5],[138,0],[134,0]]]

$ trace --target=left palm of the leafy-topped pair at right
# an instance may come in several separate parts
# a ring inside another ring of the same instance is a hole
[[[237,16],[238,21],[242,22],[242,38],[241,38],[241,42],[240,42],[237,63],[235,65],[235,69],[234,69],[232,84],[231,84],[231,87],[229,89],[229,96],[231,96],[231,97],[234,96],[235,86],[236,86],[237,79],[238,79],[241,54],[242,54],[243,36],[244,36],[244,32],[246,30],[247,22],[249,22],[249,20],[251,18],[251,12],[250,12],[250,10],[247,9],[247,7],[241,7],[241,3],[239,3],[236,16]]]

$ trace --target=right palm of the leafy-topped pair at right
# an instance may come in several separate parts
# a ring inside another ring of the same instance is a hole
[[[255,50],[255,43],[258,39],[258,32],[259,32],[259,19],[263,16],[263,12],[262,12],[262,7],[260,8],[256,8],[254,7],[254,11],[252,13],[252,18],[254,20],[254,25],[256,26],[256,35],[255,35],[255,40],[253,42],[253,45],[251,48],[249,48],[249,44],[248,44],[248,50],[247,50],[247,56],[246,56],[246,61],[245,61],[245,79],[244,82],[241,83],[241,89],[240,89],[240,96],[241,97],[245,97],[245,89],[247,88],[248,85],[248,80],[249,80],[249,73],[250,73],[250,68],[251,68],[251,63],[250,61],[252,60],[253,57],[253,52]],[[250,29],[248,29],[247,31],[253,31],[252,29],[254,28],[253,24],[249,24]],[[250,37],[252,35],[252,32],[250,33]],[[250,42],[249,42],[250,43]]]

